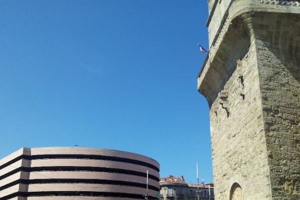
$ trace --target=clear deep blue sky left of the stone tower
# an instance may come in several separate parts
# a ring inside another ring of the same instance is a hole
[[[206,0],[1,0],[0,157],[20,147],[144,154],[212,181],[197,92]]]

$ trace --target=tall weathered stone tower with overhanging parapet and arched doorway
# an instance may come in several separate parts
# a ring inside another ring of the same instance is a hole
[[[208,0],[216,200],[300,199],[300,2]]]

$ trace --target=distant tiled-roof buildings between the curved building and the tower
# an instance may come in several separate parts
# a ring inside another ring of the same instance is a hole
[[[168,176],[161,177],[159,180],[160,199],[167,200],[196,200],[197,199],[197,184],[187,184],[183,176]],[[209,195],[210,192],[210,195]],[[200,200],[214,199],[213,184],[199,184],[199,199]]]

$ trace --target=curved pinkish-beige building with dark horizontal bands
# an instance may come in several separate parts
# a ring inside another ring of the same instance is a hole
[[[159,198],[159,164],[119,150],[21,148],[0,160],[0,200]]]

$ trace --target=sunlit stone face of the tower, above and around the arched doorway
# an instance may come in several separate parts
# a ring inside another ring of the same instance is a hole
[[[254,41],[210,108],[215,199],[237,182],[245,199],[270,199]]]

